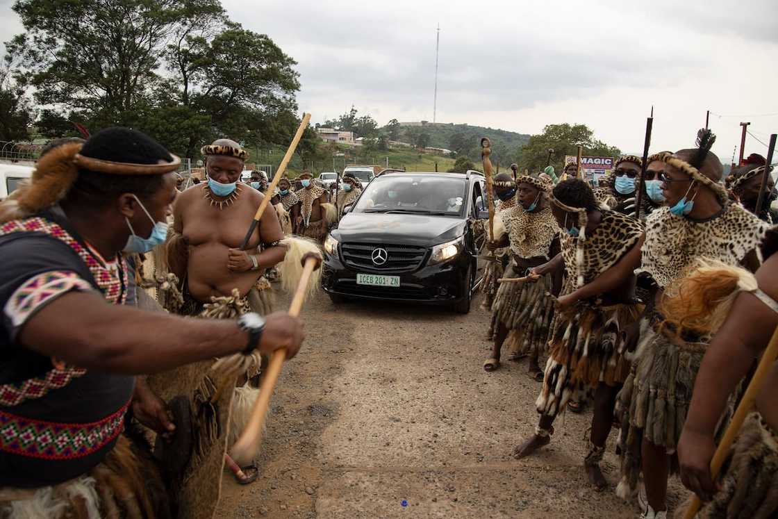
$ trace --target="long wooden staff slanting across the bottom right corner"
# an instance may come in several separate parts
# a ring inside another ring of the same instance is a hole
[[[759,390],[762,389],[762,384],[764,384],[767,373],[769,373],[769,370],[773,367],[776,357],[778,357],[778,327],[776,327],[776,331],[773,332],[773,338],[770,339],[767,349],[765,350],[764,355],[762,355],[762,360],[759,361],[759,366],[757,366],[754,377],[751,379],[751,384],[748,384],[745,395],[743,395],[740,405],[738,405],[738,409],[734,412],[734,416],[732,417],[729,426],[727,426],[727,430],[724,432],[724,438],[721,439],[721,443],[716,448],[716,454],[713,454],[713,459],[710,461],[710,477],[713,478],[714,481],[719,475],[721,465],[723,465],[724,460],[727,459],[727,454],[729,454],[730,447],[732,447],[735,437],[738,436],[738,432],[745,421],[745,417],[754,407],[756,395],[759,395]],[[684,519],[693,519],[699,511],[699,506],[699,497],[694,496],[689,508],[686,509]]]

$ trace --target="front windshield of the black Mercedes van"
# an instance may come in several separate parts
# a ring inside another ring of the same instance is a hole
[[[359,197],[354,212],[461,216],[465,182],[457,178],[377,177]]]

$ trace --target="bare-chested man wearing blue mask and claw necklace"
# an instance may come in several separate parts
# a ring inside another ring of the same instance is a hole
[[[173,205],[173,234],[168,240],[170,270],[183,280],[184,315],[230,318],[249,311],[267,314],[270,283],[265,270],[284,259],[286,247],[275,211],[265,211],[245,251],[240,250],[262,198],[239,182],[247,152],[237,142],[219,139],[202,148],[206,182],[180,193]],[[210,303],[205,307],[206,303]],[[253,375],[259,366],[252,366]],[[240,387],[233,407],[233,429],[240,432],[257,390]],[[252,382],[256,382],[254,378]],[[256,385],[256,384],[254,384]],[[240,482],[256,479],[255,467],[244,469]]]

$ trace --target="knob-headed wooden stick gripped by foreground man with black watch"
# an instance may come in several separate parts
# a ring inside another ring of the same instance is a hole
[[[293,317],[300,315],[308,282],[310,282],[310,275],[314,273],[318,261],[316,258],[307,258],[305,261],[303,275],[300,277],[292,304],[289,306],[289,315]],[[262,426],[265,424],[265,415],[268,412],[268,405],[270,405],[270,397],[273,391],[275,391],[275,383],[279,380],[284,359],[286,359],[286,348],[276,349],[272,357],[270,357],[268,370],[265,373],[265,378],[262,380],[262,387],[260,387],[257,402],[254,402],[254,409],[251,410],[251,418],[246,425],[246,429],[240,434],[240,438],[233,446],[233,458],[239,463],[251,461],[254,453],[259,448],[262,440]]]

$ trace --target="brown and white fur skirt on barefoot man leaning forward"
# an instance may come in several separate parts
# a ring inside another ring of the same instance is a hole
[[[599,383],[622,384],[629,375],[622,330],[637,321],[642,305],[582,302],[557,312],[548,336],[548,362],[535,405],[556,416],[570,398]]]

